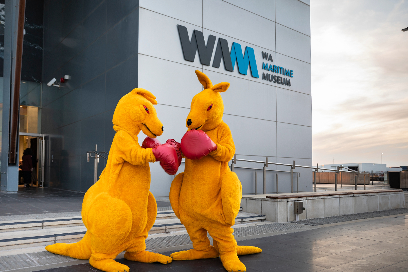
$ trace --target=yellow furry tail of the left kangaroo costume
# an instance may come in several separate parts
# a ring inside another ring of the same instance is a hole
[[[86,232],[81,241],[73,244],[56,243],[45,247],[49,252],[69,256],[75,259],[91,258],[91,234]]]

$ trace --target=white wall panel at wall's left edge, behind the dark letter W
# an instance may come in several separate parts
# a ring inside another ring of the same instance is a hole
[[[184,60],[177,25],[183,25],[188,30],[191,39],[194,29],[200,27],[182,22],[146,9],[139,10],[139,54],[154,56],[165,60],[180,62],[186,65],[202,68],[198,50],[195,61]],[[208,37],[207,37],[208,38]],[[166,71],[166,67],[157,67],[157,73]]]

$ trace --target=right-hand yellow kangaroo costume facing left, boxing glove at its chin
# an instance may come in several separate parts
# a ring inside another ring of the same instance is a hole
[[[229,83],[217,85],[196,70],[204,90],[195,95],[186,119],[188,131],[181,140],[186,157],[184,173],[171,183],[170,203],[193,241],[194,249],[175,252],[173,260],[193,260],[220,256],[228,271],[246,271],[237,255],[259,253],[252,246],[237,246],[232,225],[239,212],[242,185],[228,167],[235,145],[228,125],[222,121],[224,104],[220,92]],[[201,131],[200,131],[201,130]],[[213,245],[207,237],[213,237]]]

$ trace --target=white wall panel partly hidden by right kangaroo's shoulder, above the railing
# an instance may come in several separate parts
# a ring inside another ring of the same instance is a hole
[[[276,123],[224,114],[237,154],[276,156]]]

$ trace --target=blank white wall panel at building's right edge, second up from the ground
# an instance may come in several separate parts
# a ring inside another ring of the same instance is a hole
[[[286,123],[276,124],[277,156],[312,158],[312,128]]]

